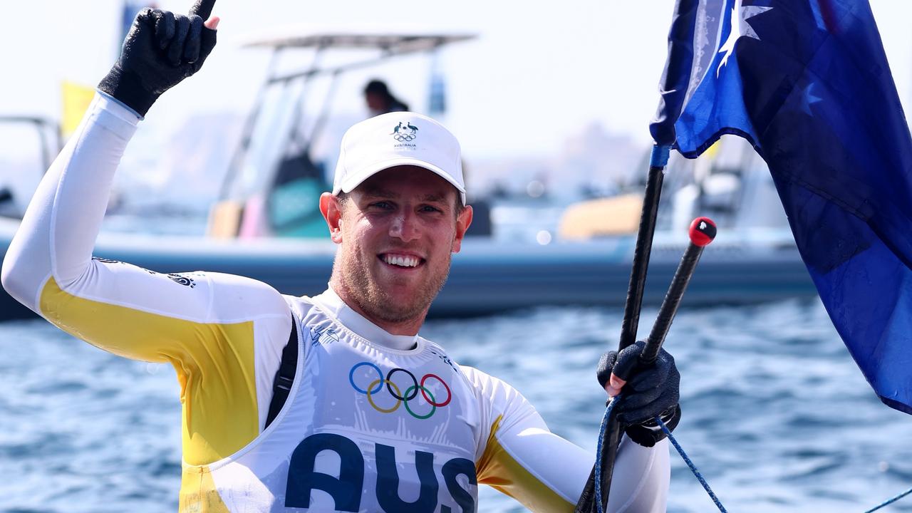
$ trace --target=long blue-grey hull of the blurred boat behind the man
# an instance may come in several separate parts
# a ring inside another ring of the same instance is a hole
[[[17,223],[0,219],[5,253]],[[657,234],[644,302],[664,297],[686,245],[686,234]],[[504,244],[467,239],[452,260],[450,278],[432,316],[472,316],[543,305],[623,305],[633,236],[582,242]],[[285,294],[326,288],[336,247],[328,240],[267,238],[218,240],[200,236],[105,234],[95,255],[158,272],[203,269],[254,277]],[[720,232],[688,288],[687,304],[741,304],[814,296],[814,286],[790,234]],[[0,319],[31,315],[5,292]]]

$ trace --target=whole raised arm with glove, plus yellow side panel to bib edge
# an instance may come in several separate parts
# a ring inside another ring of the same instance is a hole
[[[215,21],[203,27],[200,16],[155,10],[137,16],[101,93],[39,184],[2,272],[10,295],[60,329],[105,351],[174,366],[191,464],[232,454],[262,427],[291,330],[285,300],[252,279],[163,275],[93,259],[92,248],[138,113],[200,68]]]

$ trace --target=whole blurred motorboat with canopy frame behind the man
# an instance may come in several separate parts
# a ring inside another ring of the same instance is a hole
[[[336,246],[326,238],[326,226],[317,209],[319,194],[328,189],[325,166],[311,158],[310,150],[326,122],[328,107],[325,99],[309,134],[303,136],[301,105],[308,84],[316,77],[327,76],[335,83],[349,69],[406,54],[434,52],[469,39],[472,35],[350,30],[292,31],[285,36],[274,32],[254,38],[249,45],[270,48],[272,64],[244,124],[220,201],[212,208],[207,236],[102,232],[95,255],[157,272],[206,270],[254,277],[285,294],[321,292],[326,288]],[[276,65],[285,50],[302,48],[313,50],[310,67],[287,71]],[[322,66],[321,55],[329,49],[371,50],[377,55]],[[434,94],[440,95],[440,76],[435,74],[434,80]],[[267,114],[275,116],[288,109],[269,105],[284,98],[273,92],[293,88],[294,84],[300,88],[296,108],[276,131],[275,123],[266,122]],[[264,131],[268,134],[265,137]],[[269,144],[276,140],[290,143]],[[674,194],[687,190],[680,186]],[[700,203],[701,198],[709,197],[705,191],[683,195],[690,200],[690,210],[711,206]],[[636,219],[630,220],[631,215],[638,215],[635,204],[618,202],[620,206],[614,211],[611,204],[600,204],[596,210],[577,206],[571,209],[575,217],[565,217],[566,237],[558,227],[563,207],[553,208],[552,215],[543,215],[541,209],[522,205],[477,205],[479,225],[489,228],[480,233],[476,229],[476,236],[467,237],[461,253],[453,257],[449,280],[430,315],[471,316],[543,305],[623,304],[635,244],[635,229],[630,229],[636,226]],[[732,213],[737,210],[737,205],[731,207]],[[486,223],[488,212],[492,213],[491,220]],[[678,207],[675,212],[677,216],[688,214],[686,208]],[[627,217],[627,222],[620,217]],[[0,251],[4,255],[18,223],[15,218],[0,218]],[[497,236],[498,229],[510,230],[511,224],[513,232],[524,230],[533,236]],[[586,226],[580,226],[583,224]],[[606,225],[611,227],[603,230]],[[686,227],[675,226],[675,222],[667,225],[669,229],[659,230],[653,243],[644,296],[647,304],[658,304],[664,297],[688,243]],[[702,257],[689,287],[689,305],[814,296],[814,286],[787,227],[730,225],[739,227],[726,230],[726,224],[721,224],[716,242]],[[29,315],[5,292],[0,293],[0,319]]]

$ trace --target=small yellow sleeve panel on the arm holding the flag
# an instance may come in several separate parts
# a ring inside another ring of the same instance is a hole
[[[575,504],[557,495],[503,448],[497,440],[502,418],[503,415],[498,415],[492,424],[484,453],[475,465],[479,484],[513,497],[533,511],[573,511]]]

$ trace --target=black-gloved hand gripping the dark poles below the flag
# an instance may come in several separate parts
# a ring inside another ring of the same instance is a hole
[[[607,351],[598,361],[598,382],[614,397],[623,391],[617,403],[617,421],[624,432],[639,445],[651,447],[665,438],[655,421],[660,416],[669,430],[674,430],[681,416],[680,374],[675,359],[664,349],[655,363],[642,367],[639,355],[646,342],[640,340],[620,354]],[[612,375],[613,374],[613,375]]]

